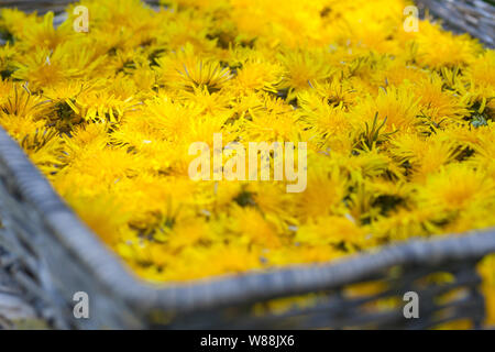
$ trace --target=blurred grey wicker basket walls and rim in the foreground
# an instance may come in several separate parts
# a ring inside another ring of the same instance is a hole
[[[495,252],[495,231],[488,230],[411,241],[324,265],[153,286],[80,222],[2,129],[0,218],[0,267],[59,329],[426,329],[459,319],[480,328],[485,304],[476,264]],[[453,279],[432,284],[426,278],[435,273]],[[383,289],[349,294],[350,286],[370,282]],[[449,301],[439,299],[454,290]],[[73,315],[77,292],[89,295],[89,319]],[[420,297],[418,319],[404,316],[408,292]],[[309,306],[268,309],[274,299],[309,294]],[[396,304],[383,304],[391,301]]]

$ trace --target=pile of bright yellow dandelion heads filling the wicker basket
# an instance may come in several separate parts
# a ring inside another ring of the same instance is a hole
[[[405,0],[3,9],[0,124],[141,276],[187,280],[495,226],[495,52]],[[307,187],[194,180],[189,145],[307,142]],[[482,267],[495,297],[495,262]],[[495,299],[488,301],[495,312]],[[494,315],[495,316],[495,315]]]

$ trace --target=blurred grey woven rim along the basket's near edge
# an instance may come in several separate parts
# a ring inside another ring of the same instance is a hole
[[[131,272],[123,260],[89,230],[2,128],[0,162],[6,165],[12,177],[9,180],[21,197],[38,211],[46,227],[73,257],[79,260],[110,293],[140,308],[188,311],[279,295],[300,295],[363,279],[393,265],[435,265],[450,260],[479,258],[495,252],[495,228],[492,228],[470,231],[462,237],[413,240],[323,264],[151,284]]]

